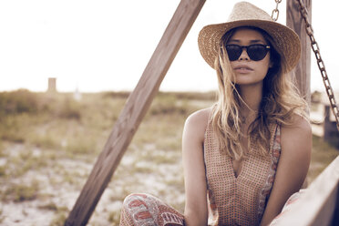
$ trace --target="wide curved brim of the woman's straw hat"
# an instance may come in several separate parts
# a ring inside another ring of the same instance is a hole
[[[295,67],[301,55],[300,39],[287,26],[267,20],[237,20],[222,24],[204,26],[199,34],[198,44],[201,56],[214,68],[214,61],[219,54],[221,37],[232,28],[240,26],[255,26],[266,31],[276,43],[277,50],[284,56],[286,72]]]

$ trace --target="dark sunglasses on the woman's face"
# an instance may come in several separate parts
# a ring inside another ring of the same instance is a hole
[[[262,60],[270,50],[270,46],[262,44],[253,44],[250,46],[226,45],[226,51],[230,61],[239,59],[244,48],[246,49],[247,55],[254,61]]]

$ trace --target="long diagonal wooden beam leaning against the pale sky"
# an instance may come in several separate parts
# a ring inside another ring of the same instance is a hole
[[[65,225],[87,224],[204,3],[205,0],[181,0],[137,87],[128,97]]]

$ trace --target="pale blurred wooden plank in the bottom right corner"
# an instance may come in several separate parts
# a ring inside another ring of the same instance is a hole
[[[274,225],[338,225],[339,157],[311,183]]]

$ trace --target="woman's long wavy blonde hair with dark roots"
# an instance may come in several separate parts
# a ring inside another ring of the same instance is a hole
[[[284,56],[272,37],[260,28],[246,28],[259,31],[271,46],[272,67],[263,79],[262,101],[257,117],[243,134],[241,126],[244,123],[244,116],[241,115],[241,106],[246,106],[246,103],[238,92],[235,75],[225,48],[237,28],[222,36],[219,57],[215,60],[214,67],[219,84],[218,101],[212,110],[211,123],[221,151],[233,159],[242,159],[246,155],[245,149],[241,147],[242,136],[248,136],[249,152],[252,151],[250,146],[253,144],[259,150],[260,155],[268,155],[272,136],[269,125],[272,123],[291,125],[294,114],[307,118],[308,111],[307,103],[293,85],[291,75],[286,72]]]

